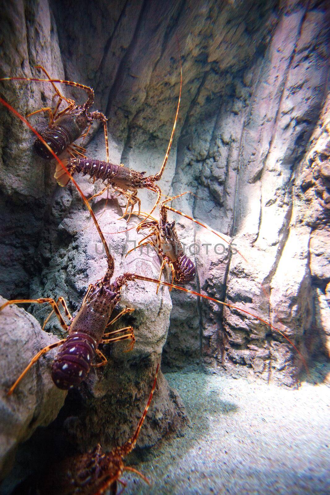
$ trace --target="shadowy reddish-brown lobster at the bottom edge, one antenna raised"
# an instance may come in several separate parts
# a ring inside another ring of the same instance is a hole
[[[148,479],[140,471],[125,466],[123,458],[136,446],[156,387],[158,369],[159,364],[147,404],[130,440],[110,452],[103,452],[102,447],[97,444],[92,452],[71,457],[58,466],[52,466],[44,482],[38,487],[40,495],[101,495],[106,490],[110,490],[111,495],[116,495],[118,483],[126,487],[126,483],[120,480],[124,471],[138,474],[149,484]]]

